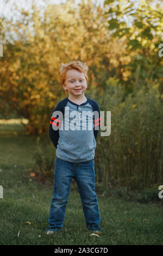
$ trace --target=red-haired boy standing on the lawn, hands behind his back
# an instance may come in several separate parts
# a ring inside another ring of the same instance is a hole
[[[80,61],[62,64],[60,68],[62,86],[69,96],[55,107],[49,124],[49,136],[56,148],[56,156],[47,234],[61,230],[63,226],[73,178],[78,185],[87,229],[102,231],[99,227],[101,217],[95,193],[94,163],[100,112],[98,103],[84,95],[87,70],[87,66]],[[92,129],[86,129],[86,124],[89,127],[92,125]]]

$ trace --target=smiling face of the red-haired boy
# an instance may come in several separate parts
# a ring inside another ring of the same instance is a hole
[[[65,84],[62,84],[62,86],[73,98],[81,98],[84,96],[87,81],[82,72],[71,69],[67,71]]]

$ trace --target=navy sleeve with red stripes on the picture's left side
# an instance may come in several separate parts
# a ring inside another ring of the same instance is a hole
[[[61,101],[55,107],[51,116],[50,124],[49,124],[49,137],[51,138],[51,141],[54,147],[57,149],[58,140],[59,140],[59,127],[61,125],[62,119],[59,117],[59,115],[56,115],[56,117],[54,117],[55,111],[61,111],[62,116],[64,116],[64,111],[63,111],[63,106]]]

